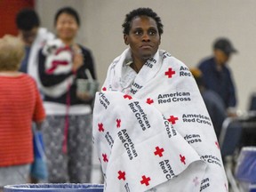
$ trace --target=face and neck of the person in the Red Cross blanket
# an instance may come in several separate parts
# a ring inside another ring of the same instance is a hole
[[[129,44],[132,50],[131,68],[139,73],[145,62],[156,54],[161,43],[156,20],[148,16],[133,18],[129,34],[124,35],[124,43]]]

